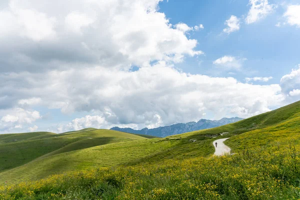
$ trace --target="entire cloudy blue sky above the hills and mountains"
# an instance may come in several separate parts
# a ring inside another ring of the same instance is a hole
[[[1,0],[0,133],[153,128],[300,100],[300,0]]]

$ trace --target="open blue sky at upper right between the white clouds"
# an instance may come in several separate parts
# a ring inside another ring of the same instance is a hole
[[[299,1],[286,1],[299,3]],[[269,3],[280,4],[280,0],[269,0]],[[277,83],[283,74],[290,71],[290,67],[299,62],[300,51],[299,28],[285,25],[276,27],[282,20],[284,7],[276,10],[265,18],[252,24],[241,23],[240,29],[229,35],[222,32],[224,21],[231,15],[243,17],[249,11],[248,0],[169,0],[159,3],[160,11],[169,18],[170,23],[186,23],[189,26],[201,23],[204,29],[192,33],[190,36],[199,42],[199,48],[205,56],[198,59],[187,58],[186,62],[178,65],[183,71],[201,73],[212,76],[233,76],[239,81],[249,76],[272,76],[267,83]],[[225,54],[247,58],[243,63],[243,70],[228,71],[214,70],[212,61]],[[202,61],[198,64],[198,61]]]

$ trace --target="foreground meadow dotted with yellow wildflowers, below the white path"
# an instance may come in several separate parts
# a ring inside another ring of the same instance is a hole
[[[2,199],[298,199],[300,146],[118,166],[3,186]]]

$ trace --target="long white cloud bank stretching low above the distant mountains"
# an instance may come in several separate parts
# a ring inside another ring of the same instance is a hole
[[[251,85],[232,77],[192,75],[163,62],[137,71],[94,67],[50,71],[40,76],[20,73],[9,77],[11,83],[20,79],[23,82],[11,98],[36,96],[43,99],[41,105],[64,113],[98,113],[99,117],[74,120],[70,124],[73,128],[97,123],[141,127],[171,124],[198,120],[207,112],[220,117],[228,112],[247,117],[280,104],[283,98],[278,84]],[[260,106],[253,104],[256,101]]]

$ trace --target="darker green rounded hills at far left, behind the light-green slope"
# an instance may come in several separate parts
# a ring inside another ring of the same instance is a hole
[[[0,172],[58,153],[107,143],[146,139],[146,137],[115,130],[90,130],[90,128],[64,134],[33,132],[0,136],[2,141],[0,143]]]

